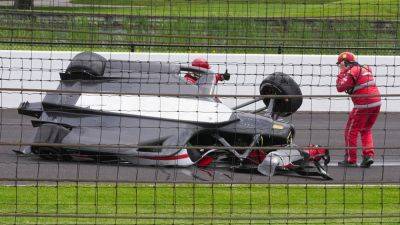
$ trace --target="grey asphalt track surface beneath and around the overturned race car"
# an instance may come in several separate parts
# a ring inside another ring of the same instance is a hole
[[[34,128],[31,117],[20,116],[15,109],[0,111],[1,142],[31,142]],[[288,118],[296,127],[295,143],[300,146],[319,144],[343,146],[343,127],[347,113],[298,112]],[[227,168],[199,169],[163,168],[99,164],[93,162],[57,162],[36,156],[16,155],[12,150],[20,146],[0,146],[0,183],[31,184],[35,180],[99,181],[128,183],[303,183],[303,184],[399,184],[400,183],[400,113],[381,113],[374,128],[375,164],[369,168],[343,168],[337,162],[343,159],[343,150],[331,150],[328,173],[332,181],[299,177],[295,174],[267,177],[256,172],[237,172]],[[22,146],[23,147],[23,146]],[[360,151],[360,150],[359,150]],[[361,161],[361,159],[359,159]],[[20,180],[16,182],[15,180]],[[23,182],[22,182],[22,181]],[[50,182],[50,183],[51,183]]]

